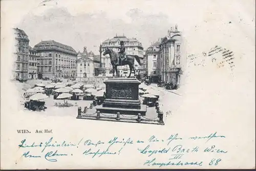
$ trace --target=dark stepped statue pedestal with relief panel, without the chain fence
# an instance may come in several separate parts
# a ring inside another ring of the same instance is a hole
[[[109,78],[106,84],[106,99],[96,110],[100,113],[121,115],[146,115],[146,105],[140,104],[139,84],[136,78]]]

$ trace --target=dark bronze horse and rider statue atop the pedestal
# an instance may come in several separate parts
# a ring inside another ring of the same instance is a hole
[[[118,49],[120,49],[120,51],[118,53],[116,53],[112,49],[107,47],[105,49],[103,55],[104,56],[106,54],[110,55],[111,65],[113,66],[113,77],[115,76],[115,71],[116,71],[116,76],[118,77],[117,66],[129,65],[130,74],[129,74],[128,78],[130,78],[132,71],[134,71],[134,75],[135,75],[135,69],[134,69],[135,59],[137,60],[137,62],[139,63],[140,66],[142,65],[140,62],[140,57],[138,55],[126,55],[123,41],[120,41],[120,47],[118,47]]]

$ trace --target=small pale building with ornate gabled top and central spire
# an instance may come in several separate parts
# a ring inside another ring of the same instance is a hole
[[[77,77],[87,78],[98,75],[100,67],[99,56],[92,51],[87,52],[87,48],[83,48],[83,52],[77,54]],[[96,72],[96,73],[95,73]]]

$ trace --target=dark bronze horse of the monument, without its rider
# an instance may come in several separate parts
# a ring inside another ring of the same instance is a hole
[[[129,74],[128,78],[131,77],[132,71],[134,71],[134,75],[135,75],[135,69],[134,69],[135,59],[137,60],[137,62],[141,66],[140,57],[138,55],[126,55],[126,59],[121,61],[121,65],[116,65],[115,62],[116,62],[117,58],[119,57],[119,54],[114,52],[112,49],[110,49],[108,47],[104,51],[103,55],[105,56],[106,54],[110,55],[111,65],[113,66],[113,77],[115,76],[115,71],[116,71],[116,76],[118,77],[117,66],[129,65],[130,74]]]

